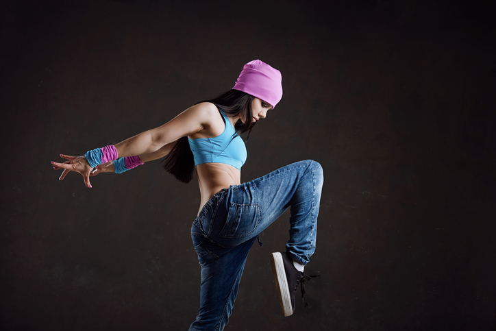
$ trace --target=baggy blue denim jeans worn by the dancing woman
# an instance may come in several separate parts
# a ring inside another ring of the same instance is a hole
[[[322,167],[306,160],[216,193],[191,227],[201,265],[199,315],[189,330],[223,330],[238,294],[249,249],[290,207],[286,252],[306,265],[315,250]]]

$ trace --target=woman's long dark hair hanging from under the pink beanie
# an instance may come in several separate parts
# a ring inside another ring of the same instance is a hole
[[[251,121],[253,117],[251,101],[253,99],[255,97],[240,90],[228,90],[215,99],[201,102],[213,103],[227,117],[236,117],[239,115],[244,117],[245,123],[243,121],[236,122],[234,129],[236,130],[236,134],[248,132],[247,138],[249,138],[253,125],[255,125]],[[171,152],[164,158],[163,167],[165,171],[174,175],[181,182],[189,183],[193,179],[195,160],[193,159],[193,152],[190,149],[187,136],[177,140]]]

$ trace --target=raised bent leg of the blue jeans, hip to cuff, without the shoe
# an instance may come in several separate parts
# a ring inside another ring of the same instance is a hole
[[[291,258],[306,265],[315,251],[322,184],[321,165],[306,160],[231,186],[224,203],[227,220],[212,225],[210,238],[225,246],[239,245],[256,238],[290,207],[286,251]]]

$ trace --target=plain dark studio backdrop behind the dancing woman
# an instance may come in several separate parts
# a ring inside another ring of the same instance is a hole
[[[3,330],[186,330],[197,183],[151,162],[58,182],[50,161],[156,127],[243,64],[284,97],[243,181],[312,158],[325,183],[306,303],[253,246],[226,330],[495,330],[494,1],[4,1]]]

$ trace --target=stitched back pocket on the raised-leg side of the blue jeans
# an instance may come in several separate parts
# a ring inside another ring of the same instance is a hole
[[[259,204],[236,204],[230,202],[227,220],[219,233],[223,238],[243,238],[255,232],[262,220]]]

